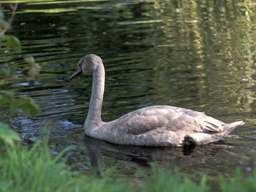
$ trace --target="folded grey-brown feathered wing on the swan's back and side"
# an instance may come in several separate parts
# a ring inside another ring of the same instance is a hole
[[[189,134],[204,131],[222,131],[225,123],[204,113],[172,106],[142,108],[117,119],[129,134],[145,134],[154,129]]]

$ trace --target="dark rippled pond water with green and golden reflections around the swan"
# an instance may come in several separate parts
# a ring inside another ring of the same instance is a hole
[[[26,143],[45,137],[58,154],[73,145],[67,164],[90,174],[92,165],[116,167],[114,175],[143,182],[134,165],[151,174],[148,162],[172,162],[180,172],[232,176],[234,166],[256,147],[256,4],[238,0],[73,0],[19,3],[12,34],[22,42],[19,54],[1,49],[0,67],[13,71],[1,88],[31,96],[40,105],[35,117],[0,107]],[[8,10],[8,1],[2,1]],[[112,145],[84,136],[92,76],[69,81],[81,57],[99,55],[106,81],[102,120],[111,121],[150,105],[205,111],[224,122],[244,120],[214,145],[148,148]],[[25,56],[41,65],[35,82]],[[199,76],[199,77],[197,77]],[[19,77],[20,80],[14,79]],[[91,157],[91,162],[90,162]]]

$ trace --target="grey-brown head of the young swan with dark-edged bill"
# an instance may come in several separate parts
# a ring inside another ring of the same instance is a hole
[[[93,73],[93,71],[95,71],[101,63],[102,60],[97,55],[90,54],[84,56],[77,64],[76,71],[70,77],[70,80],[76,78],[82,73]]]

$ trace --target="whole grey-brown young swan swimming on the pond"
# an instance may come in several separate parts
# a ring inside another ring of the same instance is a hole
[[[82,73],[93,73],[84,131],[96,139],[121,145],[204,145],[223,139],[237,126],[244,124],[243,121],[226,124],[204,112],[166,105],[142,108],[111,122],[103,122],[101,110],[105,70],[101,58],[93,54],[81,58],[70,80]]]

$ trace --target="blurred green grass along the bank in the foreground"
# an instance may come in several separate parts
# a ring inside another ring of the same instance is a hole
[[[54,156],[46,141],[38,141],[32,148],[20,143],[6,145],[7,152],[0,156],[1,192],[207,192],[214,191],[207,186],[207,175],[195,183],[179,172],[171,172],[152,164],[153,175],[146,176],[144,186],[130,185],[119,178],[111,177],[113,170],[107,170],[105,177],[73,172],[60,157]],[[67,158],[66,158],[67,159]],[[148,183],[148,184],[147,184]],[[220,175],[220,186],[216,191],[256,191],[256,172],[250,175],[237,169],[236,175],[226,180]]]

